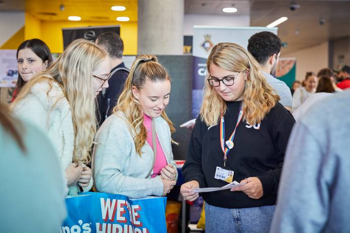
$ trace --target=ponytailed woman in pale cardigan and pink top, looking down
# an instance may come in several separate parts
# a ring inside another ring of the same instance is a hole
[[[114,114],[95,138],[92,170],[99,192],[164,196],[176,184],[175,129],[164,111],[169,95],[170,78],[157,57],[138,56]]]

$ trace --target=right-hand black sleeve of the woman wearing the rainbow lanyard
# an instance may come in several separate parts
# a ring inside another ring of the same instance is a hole
[[[273,170],[269,170],[264,176],[258,177],[263,185],[263,196],[269,194],[277,194],[279,179],[281,176],[282,165],[284,160],[284,154],[288,144],[288,139],[293,128],[295,120],[289,112],[285,112],[280,121],[277,122],[276,127],[272,132],[272,141],[277,149],[277,161],[278,167]]]

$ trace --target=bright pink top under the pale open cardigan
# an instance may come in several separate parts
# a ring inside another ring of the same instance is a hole
[[[147,131],[147,143],[149,146],[151,146],[153,150],[153,143],[152,143],[152,118],[146,114],[143,114],[143,125],[146,128]],[[161,144],[159,143],[158,136],[157,139],[157,154],[156,154],[156,162],[153,167],[153,174],[151,175],[152,178],[157,177],[159,174],[161,174],[161,170],[163,167],[165,167],[168,162],[165,157],[164,151],[161,147]]]

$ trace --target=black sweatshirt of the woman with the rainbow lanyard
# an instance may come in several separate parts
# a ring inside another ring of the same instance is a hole
[[[241,101],[227,102],[225,141],[231,136],[238,118]],[[234,147],[227,155],[226,166],[234,171],[233,180],[258,177],[263,197],[252,199],[241,191],[222,190],[202,193],[210,205],[223,208],[248,208],[275,205],[278,183],[288,138],[295,121],[289,111],[277,103],[260,126],[241,121],[233,139]],[[257,128],[257,129],[256,129]],[[182,167],[185,182],[195,180],[199,187],[222,187],[228,183],[214,179],[216,166],[223,167],[224,153],[220,146],[220,124],[208,127],[198,117]]]

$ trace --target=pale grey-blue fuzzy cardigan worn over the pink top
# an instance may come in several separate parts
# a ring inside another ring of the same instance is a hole
[[[168,123],[160,116],[155,118],[155,124],[167,162],[176,167]],[[153,149],[146,142],[141,148],[142,155],[136,153],[133,135],[124,113],[119,111],[109,116],[98,130],[95,141],[97,144],[93,149],[92,173],[97,191],[129,198],[162,196],[161,178],[151,178],[148,175],[154,164]]]

